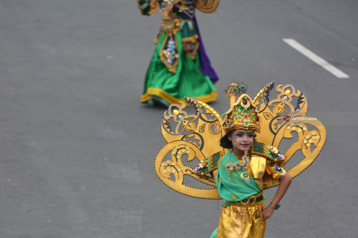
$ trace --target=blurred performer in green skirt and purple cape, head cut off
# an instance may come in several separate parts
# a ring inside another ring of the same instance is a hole
[[[149,104],[159,101],[166,106],[184,101],[184,97],[214,101],[217,92],[213,83],[218,76],[200,38],[195,8],[213,12],[219,0],[137,1],[142,15],[149,16],[158,9],[162,14],[140,101]]]

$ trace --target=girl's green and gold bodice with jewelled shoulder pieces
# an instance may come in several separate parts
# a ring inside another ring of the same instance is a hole
[[[238,202],[285,175],[283,162],[284,156],[276,148],[255,141],[244,158],[237,158],[232,151],[217,152],[200,161],[195,171],[202,175],[213,172],[220,197]]]

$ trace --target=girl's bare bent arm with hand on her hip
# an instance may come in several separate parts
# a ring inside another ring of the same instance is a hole
[[[267,218],[270,218],[272,213],[274,213],[276,205],[279,204],[281,199],[284,197],[287,189],[290,187],[292,178],[286,173],[284,176],[281,176],[279,180],[280,180],[280,185],[279,188],[277,188],[274,199],[272,199],[272,203],[270,203],[269,206],[267,206],[261,212],[263,221],[265,221]]]

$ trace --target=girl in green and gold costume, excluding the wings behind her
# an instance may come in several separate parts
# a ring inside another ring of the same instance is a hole
[[[280,207],[279,202],[291,183],[291,177],[281,166],[284,156],[270,146],[267,149],[272,159],[252,155],[260,122],[256,107],[246,94],[226,113],[222,128],[226,134],[221,138],[220,146],[232,150],[221,157],[217,167],[216,185],[225,202],[218,228],[211,238],[263,237],[266,219]],[[280,181],[275,197],[266,208],[262,193],[264,176]]]

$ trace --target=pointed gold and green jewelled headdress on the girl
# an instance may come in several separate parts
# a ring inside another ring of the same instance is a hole
[[[250,96],[243,94],[231,105],[221,124],[224,132],[235,129],[261,131],[256,106],[253,105]]]

